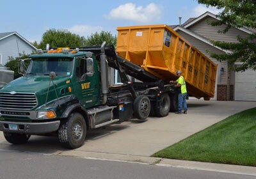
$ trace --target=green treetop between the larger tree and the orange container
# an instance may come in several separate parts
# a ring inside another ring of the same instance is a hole
[[[100,33],[94,33],[85,39],[84,45],[93,46],[101,45],[106,41],[106,45],[116,46],[116,36],[113,36],[109,31],[101,31]]]

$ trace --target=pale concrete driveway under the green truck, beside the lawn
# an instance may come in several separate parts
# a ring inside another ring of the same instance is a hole
[[[256,107],[256,102],[188,100],[188,114],[169,113],[147,121],[129,120],[88,132],[86,142],[66,150],[56,137],[32,136],[27,144],[13,145],[0,133],[0,150],[42,152],[84,158],[157,162],[150,155],[185,139],[232,114]],[[170,162],[170,161],[169,161]]]

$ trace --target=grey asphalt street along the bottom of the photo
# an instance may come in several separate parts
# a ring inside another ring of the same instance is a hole
[[[92,160],[44,153],[0,151],[0,179],[253,179],[255,176],[220,173],[136,162]]]

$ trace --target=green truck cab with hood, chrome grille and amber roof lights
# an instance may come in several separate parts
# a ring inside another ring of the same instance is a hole
[[[31,134],[56,132],[70,116],[88,118],[86,109],[100,104],[99,66],[92,52],[39,50],[29,60],[28,68],[20,63],[23,76],[0,90],[0,130],[14,144],[26,143]],[[76,119],[71,132],[83,141],[81,131],[89,122]],[[61,132],[65,136],[68,131],[63,127]],[[81,142],[68,146],[77,148]]]

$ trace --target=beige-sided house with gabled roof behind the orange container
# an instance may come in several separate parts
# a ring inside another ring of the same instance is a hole
[[[188,19],[184,24],[179,26],[170,26],[185,38],[196,49],[203,52],[207,57],[212,59],[207,51],[216,53],[225,53],[222,49],[214,47],[211,40],[237,42],[237,36],[245,37],[255,33],[252,29],[231,28],[227,33],[220,34],[218,31],[223,30],[225,26],[211,26],[209,22],[216,21],[216,15],[206,12],[196,18]],[[180,20],[181,21],[181,20]],[[215,100],[244,100],[256,101],[256,72],[247,70],[246,72],[234,72],[229,70],[227,61],[216,61],[218,71],[216,77]],[[239,62],[234,65],[239,65]]]

